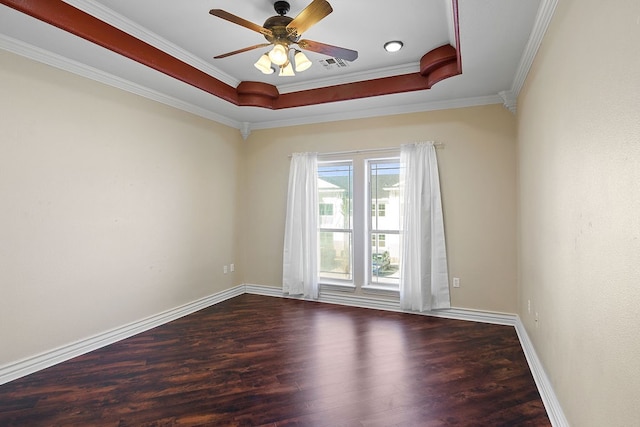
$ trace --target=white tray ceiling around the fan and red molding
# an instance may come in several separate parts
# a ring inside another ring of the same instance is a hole
[[[256,49],[214,56],[266,42],[262,35],[209,14],[213,8],[262,25],[275,15],[274,0],[65,0],[67,3],[235,87],[241,81],[275,85],[280,93],[415,73],[420,58],[443,44],[455,46],[451,0],[329,0],[333,13],[303,38],[359,52],[346,68],[326,69],[328,57],[307,52],[313,66],[295,77],[264,75],[253,67]],[[290,0],[289,16],[311,0]],[[553,13],[554,0],[459,0],[462,74],[431,89],[306,107],[239,107],[214,95],[0,6],[0,48],[31,57],[204,117],[251,129],[504,103],[515,97]],[[404,48],[386,53],[388,40]]]

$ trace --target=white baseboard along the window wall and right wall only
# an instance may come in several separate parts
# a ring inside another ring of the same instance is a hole
[[[294,298],[282,293],[282,289],[271,286],[262,285],[245,285],[245,292],[248,294],[265,295],[281,298]],[[520,340],[522,351],[529,364],[531,375],[538,387],[538,392],[542,398],[542,403],[547,411],[551,425],[554,427],[568,427],[569,423],[564,416],[560,402],[556,397],[549,377],[540,363],[540,359],[535,352],[533,343],[529,339],[529,335],[517,314],[493,313],[486,311],[469,310],[463,308],[452,308],[448,310],[430,311],[417,313],[400,309],[397,299],[372,298],[353,294],[340,293],[321,293],[318,302],[348,305],[360,308],[372,308],[376,310],[386,310],[395,312],[404,312],[410,314],[418,314],[425,316],[443,317],[447,319],[468,320],[471,322],[492,323],[497,325],[513,326]]]

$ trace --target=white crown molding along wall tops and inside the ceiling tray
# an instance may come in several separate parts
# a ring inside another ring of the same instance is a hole
[[[220,77],[221,81],[230,81],[231,83],[235,83],[235,80],[230,78],[227,75],[220,74],[219,70],[212,67],[210,64],[199,60],[198,58],[193,57],[188,52],[178,48],[177,46],[167,42],[166,40],[160,38],[159,36],[145,31],[141,29],[139,26],[129,21],[128,19],[115,14],[115,12],[104,8],[104,6],[100,6],[96,3],[91,3],[88,0],[65,0],[66,3],[77,7],[85,13],[89,13],[96,18],[104,20],[109,25],[113,25],[114,27],[118,27],[127,33],[133,34],[141,40],[149,43],[153,46],[158,46],[158,48],[169,52],[172,56],[182,58],[181,60],[189,63],[189,65],[202,70],[206,70],[207,73],[216,74]],[[402,105],[397,107],[378,107],[378,108],[370,108],[355,111],[355,109],[340,112],[340,113],[327,113],[327,114],[318,114],[314,117],[309,118],[293,118],[293,119],[284,119],[284,120],[272,120],[265,122],[243,122],[238,120],[233,120],[230,117],[219,114],[212,109],[202,108],[190,104],[188,102],[182,101],[180,99],[176,99],[174,97],[167,96],[163,93],[160,93],[155,90],[151,90],[147,87],[144,87],[139,84],[132,83],[125,79],[113,76],[109,73],[100,71],[98,69],[86,66],[84,64],[75,62],[73,60],[69,60],[62,56],[53,54],[51,52],[46,52],[40,48],[27,45],[25,43],[19,42],[17,40],[11,39],[7,36],[0,35],[0,48],[4,48],[5,50],[12,51],[19,55],[37,60],[39,62],[46,63],[48,65],[52,65],[54,67],[64,69],[66,71],[91,78],[98,82],[111,85],[122,90],[135,93],[137,95],[146,97],[148,99],[152,99],[163,104],[181,109],[183,111],[190,112],[192,114],[196,114],[198,116],[214,120],[216,122],[225,124],[227,126],[236,128],[241,131],[243,138],[248,138],[251,130],[255,129],[268,129],[268,128],[276,128],[282,126],[294,126],[301,124],[310,124],[310,123],[318,123],[318,122],[329,122],[329,121],[338,121],[338,120],[348,120],[348,119],[359,119],[359,118],[367,118],[367,117],[379,117],[384,115],[395,115],[395,114],[405,114],[405,113],[413,113],[419,111],[433,111],[440,109],[450,109],[450,108],[463,108],[469,106],[477,106],[477,105],[487,105],[487,104],[496,104],[501,103],[507,109],[516,112],[516,103],[517,97],[519,95],[519,91],[521,90],[526,76],[529,72],[531,64],[534,60],[534,57],[538,51],[538,48],[542,42],[546,29],[552,19],[553,12],[555,11],[555,7],[557,4],[557,0],[541,0],[540,7],[538,9],[538,13],[536,16],[536,20],[534,23],[533,30],[531,32],[530,38],[528,40],[526,49],[521,57],[517,72],[514,76],[512,88],[510,90],[502,91],[495,96],[485,96],[479,98],[467,98],[467,99],[457,99],[451,101],[435,101],[435,102],[427,102],[427,103],[419,103],[419,104],[410,104],[410,105]],[[397,67],[389,67],[387,69],[381,70],[382,75],[385,74],[393,74],[402,71],[414,71],[416,68],[416,64],[404,64]],[[376,73],[357,73],[349,76],[341,76],[336,79],[329,78],[323,79],[322,84],[331,84],[335,82],[350,82],[357,78],[367,78],[376,75]],[[284,85],[281,87],[284,93],[289,93],[289,91],[300,91],[305,87],[310,87],[308,84],[300,83],[300,84],[290,84]]]

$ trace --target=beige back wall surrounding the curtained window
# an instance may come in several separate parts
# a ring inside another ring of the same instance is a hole
[[[515,118],[498,105],[261,130],[245,142],[246,283],[280,287],[289,154],[435,140],[455,307],[516,311]]]

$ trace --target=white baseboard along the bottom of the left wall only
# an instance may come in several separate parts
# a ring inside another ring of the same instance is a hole
[[[244,285],[0,367],[0,385],[89,353],[244,293]]]

